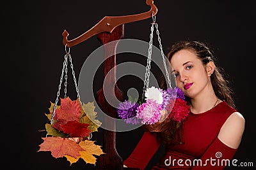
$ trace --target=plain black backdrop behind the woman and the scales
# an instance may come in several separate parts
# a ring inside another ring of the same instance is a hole
[[[254,1],[161,1],[154,2],[164,53],[180,40],[199,40],[207,43],[218,65],[225,69],[234,87],[237,110],[246,120],[244,136],[234,159],[255,162],[255,3]],[[129,1],[6,1],[1,5],[1,134],[2,155],[12,162],[8,169],[92,169],[84,161],[69,166],[68,161],[54,159],[50,152],[37,152],[45,113],[58,91],[63,56],[62,32],[68,39],[88,31],[104,16],[131,15],[148,11],[145,0]],[[149,40],[151,18],[125,24],[124,38]],[[155,34],[156,35],[156,34]],[[101,45],[93,36],[71,48],[76,76],[86,57]],[[158,46],[158,42],[154,41]],[[136,58],[136,57],[134,57]],[[131,57],[131,60],[134,59]],[[137,57],[138,58],[138,57]],[[141,58],[143,60],[144,58]],[[124,60],[117,60],[117,64]],[[144,61],[142,61],[144,62]],[[103,69],[99,69],[103,75]],[[72,80],[70,78],[70,80]],[[131,79],[132,80],[132,79]],[[102,76],[95,80],[99,90]],[[125,83],[120,81],[120,89]],[[127,86],[131,84],[126,84]],[[70,97],[76,97],[69,83]],[[116,134],[116,149],[124,159],[140,139],[141,129]],[[102,145],[102,129],[93,134]],[[159,150],[147,168],[159,159]],[[227,169],[253,169],[228,167]]]

